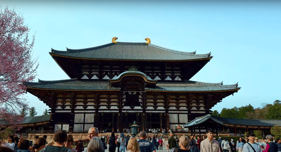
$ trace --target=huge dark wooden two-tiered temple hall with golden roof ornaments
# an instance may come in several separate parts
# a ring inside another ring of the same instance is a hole
[[[150,43],[116,42],[49,54],[70,77],[25,82],[27,91],[51,108],[49,130],[114,132],[134,121],[145,128],[175,128],[209,114],[238,84],[190,81],[210,53],[180,52]],[[110,128],[110,129],[108,129]]]

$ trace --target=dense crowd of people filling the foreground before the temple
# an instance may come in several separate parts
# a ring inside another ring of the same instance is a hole
[[[155,129],[157,130],[157,129]],[[126,131],[126,130],[124,130]],[[148,130],[151,131],[151,130]],[[154,129],[152,130],[154,131]],[[147,135],[146,131],[140,131],[135,137],[133,135],[125,136],[124,133],[111,136],[99,137],[98,128],[92,127],[88,131],[88,148],[85,152],[156,152],[164,150],[167,152],[281,152],[281,139],[276,139],[267,135],[263,142],[259,142],[255,134],[249,133],[240,137],[236,142],[233,138],[230,141],[227,138],[214,138],[214,130],[206,129],[205,135],[175,136],[169,137],[162,135]],[[47,143],[47,136],[35,136],[35,143],[24,139],[23,136],[9,136],[8,142],[1,140],[0,151],[2,152],[82,152],[84,146],[79,140],[76,147],[73,147],[73,136],[67,134],[65,130],[58,130],[54,134],[54,142]],[[109,145],[109,147],[107,147]]]

